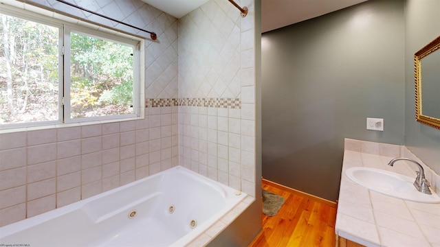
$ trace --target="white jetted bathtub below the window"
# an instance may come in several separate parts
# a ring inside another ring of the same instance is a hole
[[[0,227],[0,246],[186,246],[245,196],[173,167]]]

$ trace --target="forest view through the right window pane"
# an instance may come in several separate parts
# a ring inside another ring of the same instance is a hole
[[[133,47],[72,32],[71,117],[133,113]]]

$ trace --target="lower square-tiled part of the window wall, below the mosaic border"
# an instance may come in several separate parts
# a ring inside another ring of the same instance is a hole
[[[175,107],[149,109],[142,120],[0,138],[1,226],[178,164]]]

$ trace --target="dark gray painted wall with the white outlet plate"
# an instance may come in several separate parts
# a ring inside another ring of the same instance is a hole
[[[263,178],[336,201],[345,137],[404,144],[404,54],[403,0],[264,33]]]

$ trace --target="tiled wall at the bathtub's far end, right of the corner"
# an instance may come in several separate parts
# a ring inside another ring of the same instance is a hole
[[[179,19],[179,98],[239,99],[179,106],[179,163],[255,196],[254,2],[237,3],[248,16],[211,0]]]

